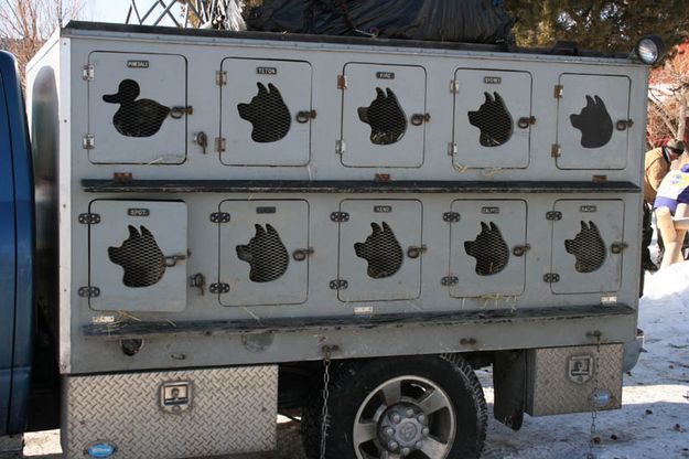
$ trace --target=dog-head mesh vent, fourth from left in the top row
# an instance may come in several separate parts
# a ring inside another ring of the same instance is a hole
[[[512,116],[503,97],[493,93],[483,93],[486,102],[476,111],[469,113],[469,122],[481,130],[478,141],[483,147],[498,147],[506,143],[514,132]]]

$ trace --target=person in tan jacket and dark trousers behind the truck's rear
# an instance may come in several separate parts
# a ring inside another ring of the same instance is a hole
[[[654,148],[646,152],[644,160],[644,221],[642,230],[642,269],[656,271],[658,267],[650,259],[650,250],[648,246],[653,238],[653,228],[650,221],[653,216],[653,204],[658,194],[660,182],[667,173],[670,171],[672,161],[679,159],[685,152],[685,142],[678,139],[672,139],[664,147]],[[663,242],[658,237],[658,244]],[[643,273],[642,273],[643,276]]]

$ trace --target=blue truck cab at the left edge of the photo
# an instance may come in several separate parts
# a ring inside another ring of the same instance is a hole
[[[14,57],[0,51],[0,436],[25,430],[34,341],[34,190]]]

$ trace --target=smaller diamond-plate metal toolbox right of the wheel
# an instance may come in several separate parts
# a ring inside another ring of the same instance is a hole
[[[531,416],[622,406],[622,344],[536,349],[527,357],[527,409]]]

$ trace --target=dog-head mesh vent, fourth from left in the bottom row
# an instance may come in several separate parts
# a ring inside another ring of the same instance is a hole
[[[464,242],[466,254],[476,258],[476,274],[491,276],[505,269],[509,261],[509,247],[495,223],[481,222],[481,233],[474,241]]]

